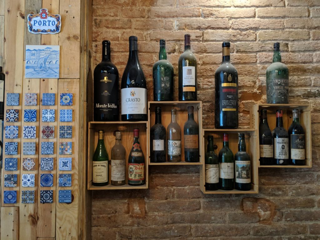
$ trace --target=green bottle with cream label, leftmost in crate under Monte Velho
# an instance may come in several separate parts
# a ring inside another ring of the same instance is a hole
[[[103,130],[98,131],[98,145],[93,154],[92,159],[92,185],[105,186],[108,185],[109,173],[109,156],[104,145]]]

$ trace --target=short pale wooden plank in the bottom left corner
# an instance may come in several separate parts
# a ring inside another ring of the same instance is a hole
[[[19,240],[19,207],[1,207],[2,240]]]

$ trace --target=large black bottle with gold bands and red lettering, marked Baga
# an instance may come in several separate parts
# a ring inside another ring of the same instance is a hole
[[[215,75],[216,128],[238,128],[238,72],[230,63],[230,43],[222,43],[222,64]]]

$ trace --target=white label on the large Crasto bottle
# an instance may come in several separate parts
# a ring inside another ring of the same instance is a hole
[[[121,89],[121,114],[147,114],[147,89]]]

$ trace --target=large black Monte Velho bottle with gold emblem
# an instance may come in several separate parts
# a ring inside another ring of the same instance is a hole
[[[119,73],[110,61],[110,41],[102,41],[102,61],[93,72],[93,120],[119,121]]]

